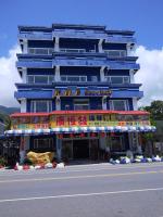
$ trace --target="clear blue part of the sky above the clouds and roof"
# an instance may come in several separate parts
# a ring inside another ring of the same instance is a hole
[[[1,0],[0,56],[17,41],[17,25],[76,23],[136,30],[138,44],[161,49],[163,0]]]

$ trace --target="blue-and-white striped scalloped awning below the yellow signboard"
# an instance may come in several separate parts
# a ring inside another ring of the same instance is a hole
[[[154,126],[108,126],[108,127],[58,127],[51,129],[14,129],[7,130],[5,136],[78,133],[78,132],[150,132],[155,131]]]

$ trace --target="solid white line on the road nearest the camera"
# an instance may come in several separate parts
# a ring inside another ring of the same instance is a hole
[[[54,196],[4,199],[4,200],[0,200],[0,203],[21,202],[21,201],[35,201],[35,200],[48,200],[48,199],[80,197],[80,196],[99,196],[99,195],[110,195],[110,194],[148,192],[148,191],[163,191],[163,188],[155,188],[155,189],[134,189],[134,190],[126,190],[126,191],[106,191],[106,192],[79,193],[79,194],[64,194],[64,195],[54,195]]]

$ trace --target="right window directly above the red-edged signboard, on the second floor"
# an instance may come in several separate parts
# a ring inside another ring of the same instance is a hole
[[[111,110],[115,110],[115,111],[128,111],[128,101],[127,100],[111,100],[110,107]]]

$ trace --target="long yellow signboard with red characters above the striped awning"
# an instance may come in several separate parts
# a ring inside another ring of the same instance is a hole
[[[34,119],[34,118],[33,118]],[[45,123],[18,123],[12,124],[12,129],[48,129],[58,127],[105,127],[105,126],[150,126],[149,120],[117,120],[114,114],[51,114],[49,122]]]

